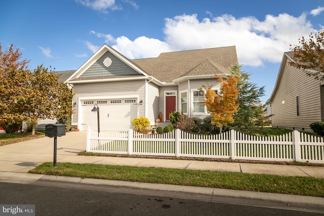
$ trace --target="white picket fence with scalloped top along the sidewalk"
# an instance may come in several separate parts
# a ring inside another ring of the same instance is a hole
[[[234,130],[221,135],[196,135],[179,129],[165,134],[140,134],[132,129],[98,134],[89,127],[87,152],[324,163],[323,138],[298,131],[276,137],[250,136]]]

